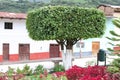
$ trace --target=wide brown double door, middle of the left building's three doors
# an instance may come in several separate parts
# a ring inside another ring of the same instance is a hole
[[[29,60],[30,46],[29,44],[19,44],[19,60]]]

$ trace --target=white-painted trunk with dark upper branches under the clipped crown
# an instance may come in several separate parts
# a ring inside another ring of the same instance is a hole
[[[61,52],[62,52],[62,61],[65,70],[68,70],[72,66],[72,54],[73,54],[73,41],[67,40],[66,44],[66,52],[64,51],[65,42],[63,40],[56,40],[58,44],[61,45]]]

